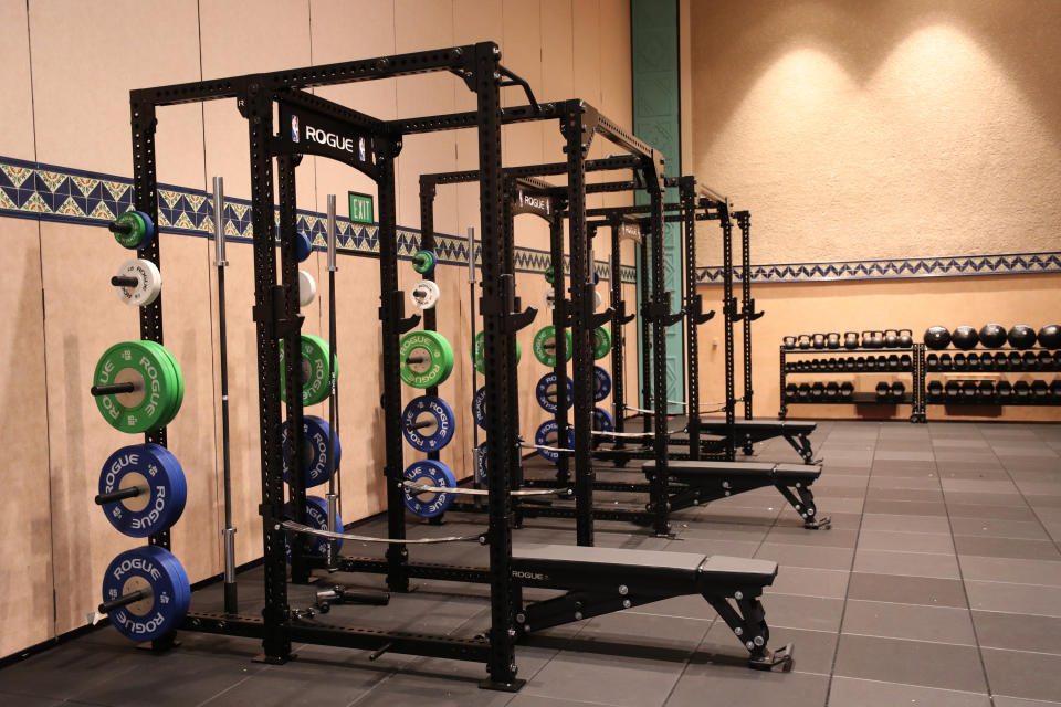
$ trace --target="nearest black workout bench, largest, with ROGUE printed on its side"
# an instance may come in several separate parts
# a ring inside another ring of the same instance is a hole
[[[791,645],[767,647],[770,631],[759,597],[774,583],[777,562],[692,552],[624,550],[567,545],[512,549],[512,577],[522,587],[566,590],[527,604],[516,624],[524,633],[654,601],[701,594],[750,653],[757,669],[792,667]]]

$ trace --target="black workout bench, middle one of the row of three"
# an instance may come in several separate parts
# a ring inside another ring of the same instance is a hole
[[[649,479],[655,474],[655,462],[641,467]],[[830,525],[829,517],[818,516],[811,484],[821,476],[821,466],[746,462],[671,461],[668,479],[676,484],[669,497],[671,510],[681,510],[702,503],[727,498],[754,488],[774,486],[812,530]]]

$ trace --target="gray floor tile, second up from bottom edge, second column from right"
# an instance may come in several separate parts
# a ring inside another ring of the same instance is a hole
[[[975,646],[840,635],[836,675],[986,693]]]

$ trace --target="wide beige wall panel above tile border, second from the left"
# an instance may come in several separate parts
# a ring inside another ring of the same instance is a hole
[[[38,159],[132,175],[129,89],[199,80],[197,18],[191,0],[30,3]],[[162,126],[159,181],[200,184],[199,107],[169,108]]]

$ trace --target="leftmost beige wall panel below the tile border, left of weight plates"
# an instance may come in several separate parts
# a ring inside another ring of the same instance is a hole
[[[0,307],[14,336],[4,337],[0,394],[8,401],[0,424],[7,498],[0,516],[0,656],[53,635],[52,509],[48,474],[45,340],[38,222],[6,219],[0,246],[7,263]],[[117,303],[115,303],[117,304]],[[91,499],[85,499],[86,505]]]

